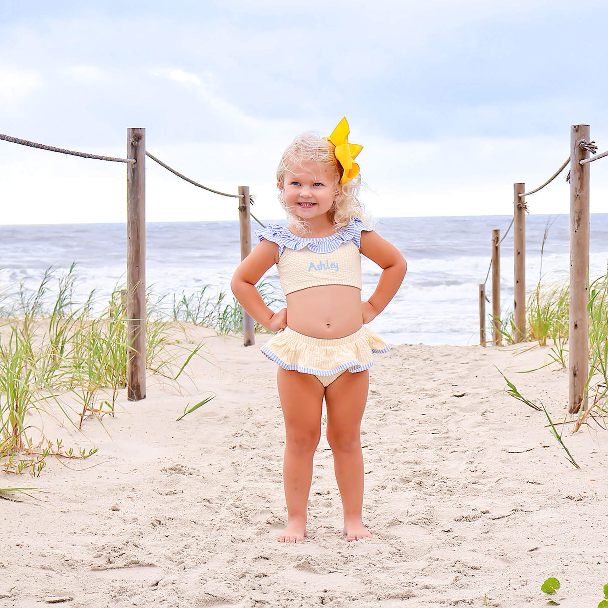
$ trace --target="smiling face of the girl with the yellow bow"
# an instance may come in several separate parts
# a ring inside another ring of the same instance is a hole
[[[327,215],[337,193],[337,171],[319,162],[306,161],[289,165],[283,183],[285,206],[302,219]]]

